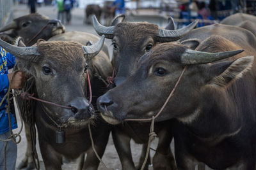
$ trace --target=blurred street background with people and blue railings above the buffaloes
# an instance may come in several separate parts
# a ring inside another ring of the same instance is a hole
[[[84,24],[91,23],[91,14],[99,15],[102,24],[108,25],[115,15],[125,13],[128,20],[147,20],[151,17],[157,19],[155,22],[159,25],[164,25],[164,20],[171,16],[177,28],[200,19],[200,27],[220,22],[237,12],[256,14],[256,1],[253,0],[1,0],[0,27],[6,24],[10,18],[8,16],[12,15],[12,6],[20,4],[28,6],[31,13],[44,6],[54,6],[56,18],[64,24],[71,24],[67,21],[67,10],[63,10],[63,16],[62,13],[58,13],[61,12],[60,6],[66,6],[67,3],[72,5],[68,7],[70,15],[76,8],[83,10],[81,17]],[[89,16],[86,16],[86,8]]]

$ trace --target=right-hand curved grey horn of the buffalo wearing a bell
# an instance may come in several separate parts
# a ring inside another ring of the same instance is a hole
[[[97,55],[100,52],[102,46],[104,45],[104,39],[105,39],[105,36],[103,35],[101,36],[99,41],[94,45],[82,46],[84,50],[84,55],[86,55],[89,60],[92,59],[95,55]]]

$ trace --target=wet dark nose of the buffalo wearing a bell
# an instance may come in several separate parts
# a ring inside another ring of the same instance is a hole
[[[90,118],[92,113],[95,112],[92,104],[89,104],[88,100],[84,97],[72,100],[69,106],[76,118]]]

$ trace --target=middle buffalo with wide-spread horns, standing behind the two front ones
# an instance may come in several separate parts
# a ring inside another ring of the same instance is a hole
[[[124,17],[124,15],[120,15],[120,17]],[[104,34],[106,38],[113,39],[113,65],[115,66],[113,81],[116,86],[134,73],[140,57],[149,52],[153,46],[182,38],[195,27],[196,23],[193,22],[188,27],[178,30],[160,29],[157,25],[148,22],[120,22],[111,27],[104,27],[99,24],[97,18],[93,17],[95,31],[99,35]],[[108,120],[106,121],[108,122]],[[109,123],[113,124],[113,122]],[[123,169],[135,169],[130,148],[131,139],[134,139],[136,143],[145,144],[138,166],[140,168],[145,159],[149,127],[150,123],[138,122],[125,122],[125,124],[116,125],[112,136]],[[154,169],[175,169],[175,161],[170,150],[172,134],[167,130],[169,127],[168,121],[156,124],[159,145],[153,159]],[[173,162],[170,163],[170,160]]]

